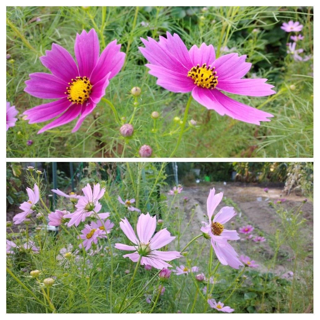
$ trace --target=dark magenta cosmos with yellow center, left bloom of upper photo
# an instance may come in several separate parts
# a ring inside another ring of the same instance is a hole
[[[42,64],[52,74],[30,74],[24,91],[34,97],[59,99],[25,111],[29,124],[44,122],[59,116],[45,125],[38,133],[66,124],[80,115],[72,132],[76,132],[84,118],[92,112],[105,95],[109,80],[124,64],[121,44],[110,42],[99,57],[99,39],[94,29],[77,34],[75,42],[76,65],[71,54],[58,44],[40,57]]]

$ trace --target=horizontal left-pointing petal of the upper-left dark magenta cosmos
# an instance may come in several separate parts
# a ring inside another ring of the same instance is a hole
[[[57,99],[67,96],[64,92],[68,84],[57,77],[43,72],[31,73],[29,76],[30,80],[25,81],[27,86],[24,91],[32,96],[44,99]]]

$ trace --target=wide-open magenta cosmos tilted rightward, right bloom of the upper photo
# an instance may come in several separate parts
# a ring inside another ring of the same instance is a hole
[[[251,68],[245,62],[246,56],[229,53],[216,59],[212,44],[203,43],[200,48],[193,45],[188,51],[177,34],[167,32],[167,39],[160,36],[159,42],[148,37],[141,38],[146,46],[139,47],[150,61],[146,67],[158,78],[157,84],[172,92],[192,92],[192,97],[207,109],[213,109],[221,116],[260,124],[270,121],[273,115],[247,106],[224,95],[222,91],[248,95],[268,96],[275,93],[267,79],[241,79]]]

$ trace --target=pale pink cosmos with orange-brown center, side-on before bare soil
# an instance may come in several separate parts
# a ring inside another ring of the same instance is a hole
[[[217,208],[218,204],[221,202],[223,197],[223,192],[214,194],[215,189],[211,189],[208,200],[207,200],[207,212],[209,217],[209,224],[205,224],[201,228],[201,231],[206,233],[211,238],[211,244],[214,249],[214,252],[217,255],[217,258],[223,265],[229,265],[232,268],[238,269],[243,264],[237,258],[238,254],[228,244],[228,240],[238,240],[236,230],[227,230],[224,228],[224,223],[229,221],[232,217],[236,215],[233,207],[223,207],[221,210],[214,216],[212,220],[213,211]]]

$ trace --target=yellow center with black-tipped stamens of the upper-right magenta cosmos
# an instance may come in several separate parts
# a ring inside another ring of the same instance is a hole
[[[196,67],[192,67],[188,72],[188,77],[191,77],[198,87],[214,89],[218,84],[218,77],[216,76],[217,71],[213,71],[215,67],[209,65],[207,67],[206,63],[202,67],[197,64]]]

